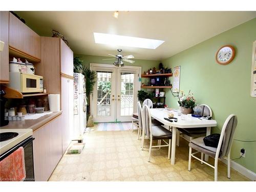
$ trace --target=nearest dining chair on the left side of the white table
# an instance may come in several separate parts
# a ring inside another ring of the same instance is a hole
[[[143,150],[143,144],[145,136],[150,139],[150,149],[148,152],[147,161],[150,162],[152,147],[164,147],[168,146],[168,159],[170,159],[170,146],[172,143],[172,132],[165,129],[163,126],[152,126],[152,118],[150,113],[150,108],[147,105],[142,107],[142,140],[141,140],[141,150]],[[166,140],[169,140],[167,143]],[[153,140],[163,140],[164,145],[158,144],[153,146]]]

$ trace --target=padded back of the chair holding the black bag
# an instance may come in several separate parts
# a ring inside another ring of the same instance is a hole
[[[219,158],[223,158],[228,155],[231,149],[234,131],[236,130],[237,124],[238,118],[234,114],[229,115],[226,121],[224,122],[216,152],[216,155],[218,155]]]

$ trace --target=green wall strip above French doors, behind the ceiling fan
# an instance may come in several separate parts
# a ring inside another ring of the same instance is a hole
[[[86,67],[90,66],[90,63],[102,63],[102,64],[113,64],[115,60],[102,60],[102,59],[109,59],[111,57],[104,57],[104,56],[93,56],[93,55],[79,55],[74,54],[74,56],[81,57],[81,60],[83,61],[83,65]],[[142,59],[131,59],[134,60],[135,63],[127,63],[125,62],[124,65],[126,66],[139,66],[141,67],[142,73],[144,71],[147,71],[148,69],[153,67],[158,67],[160,61],[156,60],[142,60]]]

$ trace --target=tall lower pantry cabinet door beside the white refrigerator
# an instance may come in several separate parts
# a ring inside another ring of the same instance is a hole
[[[74,131],[74,80],[61,77],[62,154],[70,144]]]

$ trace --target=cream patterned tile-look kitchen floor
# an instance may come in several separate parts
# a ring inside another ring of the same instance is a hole
[[[151,162],[147,162],[148,140],[141,151],[137,130],[93,129],[84,134],[82,153],[65,154],[49,181],[214,181],[214,169],[198,160],[192,160],[188,172],[188,143],[183,139],[176,148],[176,164],[171,165],[167,147],[153,148]],[[212,164],[213,159],[209,158],[209,162]],[[226,172],[227,166],[219,161],[219,181],[249,181],[233,169],[228,179]]]

